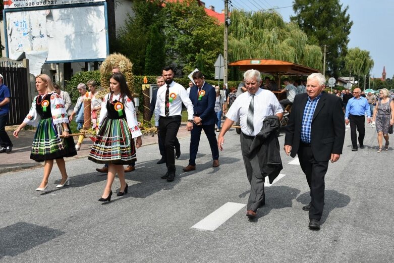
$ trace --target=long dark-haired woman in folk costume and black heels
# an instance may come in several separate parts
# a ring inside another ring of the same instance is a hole
[[[130,90],[121,73],[109,79],[109,93],[104,96],[99,116],[99,130],[88,159],[98,164],[108,164],[107,183],[99,201],[111,200],[111,186],[118,173],[121,187],[118,196],[127,193],[123,165],[136,160],[136,146],[142,145],[141,131]]]

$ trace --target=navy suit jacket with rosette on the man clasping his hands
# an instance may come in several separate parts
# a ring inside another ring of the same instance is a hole
[[[212,125],[217,123],[215,114],[216,91],[208,83],[204,83],[201,90],[205,91],[205,95],[198,100],[198,87],[194,85],[190,88],[189,98],[193,103],[194,116],[201,118],[202,125]]]

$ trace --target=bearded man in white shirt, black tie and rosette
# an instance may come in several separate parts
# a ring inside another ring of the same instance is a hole
[[[154,109],[155,126],[165,147],[167,173],[162,179],[172,182],[175,179],[175,138],[177,137],[182,119],[182,103],[188,111],[186,129],[193,129],[193,104],[185,88],[174,81],[174,69],[166,66],[162,70],[165,84],[157,90],[157,100]]]

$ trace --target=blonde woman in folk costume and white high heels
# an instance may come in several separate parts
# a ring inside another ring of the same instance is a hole
[[[54,92],[52,81],[48,75],[40,74],[36,77],[38,95],[34,97],[29,114],[14,131],[18,134],[27,124],[37,126],[31,147],[30,159],[44,163],[44,176],[37,191],[46,191],[48,177],[53,167],[53,160],[59,167],[62,180],[56,187],[70,184],[67,176],[66,164],[63,157],[77,155],[73,137],[70,136],[70,126],[64,100]],[[63,135],[63,138],[60,136]]]

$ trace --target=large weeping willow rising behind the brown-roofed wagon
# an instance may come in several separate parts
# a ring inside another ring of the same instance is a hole
[[[307,35],[275,11],[231,14],[229,61],[259,58],[284,60],[322,69],[320,47],[308,44]]]

